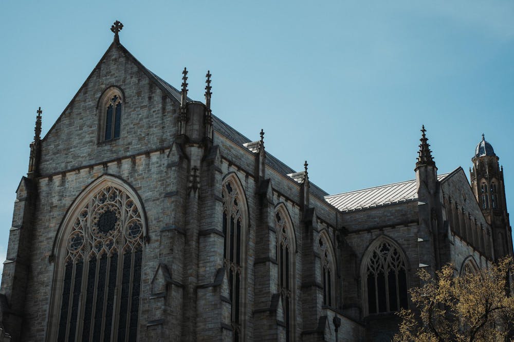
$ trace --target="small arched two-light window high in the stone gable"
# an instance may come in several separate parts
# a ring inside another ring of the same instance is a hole
[[[123,95],[116,87],[107,89],[100,99],[100,140],[118,139],[121,134]]]

